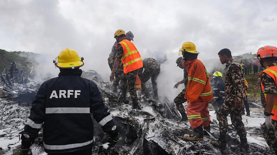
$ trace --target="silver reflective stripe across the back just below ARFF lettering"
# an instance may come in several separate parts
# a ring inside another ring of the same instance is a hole
[[[76,107],[58,107],[58,108],[45,108],[46,114],[54,113],[89,113],[89,108],[76,108]]]

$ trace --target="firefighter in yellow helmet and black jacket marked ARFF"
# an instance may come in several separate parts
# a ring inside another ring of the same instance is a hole
[[[28,154],[38,132],[43,127],[45,152],[48,154],[92,154],[93,118],[110,136],[115,145],[118,132],[105,106],[97,85],[81,78],[83,57],[66,48],[53,61],[59,67],[57,78],[44,82],[32,103],[30,116],[21,132],[21,154]]]

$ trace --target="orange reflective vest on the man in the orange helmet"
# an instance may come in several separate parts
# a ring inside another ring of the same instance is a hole
[[[272,77],[274,79],[274,82],[277,86],[277,66],[272,66],[272,67],[268,67],[267,69],[263,70],[261,73],[260,73],[260,77],[261,77],[261,74],[265,72],[267,73],[267,75],[269,75],[270,77]],[[261,82],[261,86],[262,86],[262,90],[264,92],[264,86],[263,86],[263,83]],[[266,94],[265,94],[265,100],[266,100]],[[271,116],[271,119],[277,121],[277,96],[275,97],[275,103],[274,103],[274,106],[273,106],[273,109],[272,109],[272,112],[274,114],[274,116]]]

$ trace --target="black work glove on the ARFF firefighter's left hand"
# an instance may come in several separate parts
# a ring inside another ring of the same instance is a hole
[[[22,150],[29,149],[30,146],[35,142],[35,138],[38,137],[38,133],[28,133],[25,131],[21,131],[21,146]],[[21,149],[20,149],[21,152]],[[28,152],[27,152],[28,153]]]

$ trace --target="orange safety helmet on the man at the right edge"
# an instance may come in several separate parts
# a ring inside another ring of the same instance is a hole
[[[264,46],[258,49],[257,58],[261,63],[262,58],[277,57],[277,48],[275,46]]]

